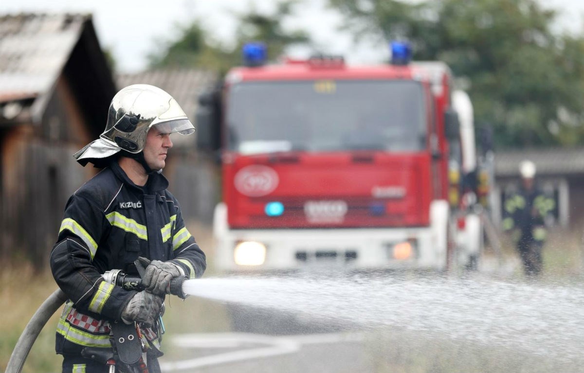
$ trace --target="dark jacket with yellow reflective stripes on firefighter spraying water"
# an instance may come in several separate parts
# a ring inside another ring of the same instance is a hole
[[[57,353],[110,347],[106,321],[121,320],[135,291],[106,283],[105,271],[127,270],[143,256],[171,260],[190,278],[202,276],[205,255],[166,187],[160,174],[136,186],[113,161],[69,198],[50,256],[55,281],[69,297],[57,327]]]

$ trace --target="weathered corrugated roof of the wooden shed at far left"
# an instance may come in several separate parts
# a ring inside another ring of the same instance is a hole
[[[42,97],[50,91],[91,15],[0,16],[0,97]],[[37,104],[33,104],[33,112]]]

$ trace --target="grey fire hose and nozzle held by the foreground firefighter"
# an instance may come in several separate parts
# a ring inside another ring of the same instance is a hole
[[[143,267],[138,265],[137,262],[136,267],[138,273],[141,275],[144,270]],[[106,271],[102,277],[108,283],[117,285],[126,290],[144,290],[141,277],[130,276],[121,270]],[[186,276],[173,278],[170,286],[170,294],[184,298],[182,287],[187,279],[188,277]],[[6,365],[6,373],[20,373],[22,371],[22,367],[30,353],[30,349],[33,347],[34,341],[36,341],[41,330],[43,330],[43,327],[48,322],[48,319],[53,316],[53,313],[55,313],[55,311],[57,311],[67,299],[67,295],[65,295],[61,289],[57,289],[53,294],[49,295],[43,304],[40,305],[39,309],[37,309],[29,323],[27,323],[25,330],[23,330],[16,342],[16,346],[14,347],[14,350],[12,350],[12,355],[8,361],[8,365]]]

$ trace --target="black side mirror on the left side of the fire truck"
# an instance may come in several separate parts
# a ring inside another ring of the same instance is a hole
[[[204,92],[199,96],[199,106],[195,114],[197,128],[197,149],[217,151],[221,147],[220,103],[215,92]]]

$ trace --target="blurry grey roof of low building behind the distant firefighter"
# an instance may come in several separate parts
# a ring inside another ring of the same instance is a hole
[[[538,175],[575,175],[584,173],[584,148],[526,149],[495,152],[495,175],[519,175],[519,163],[529,159]]]

